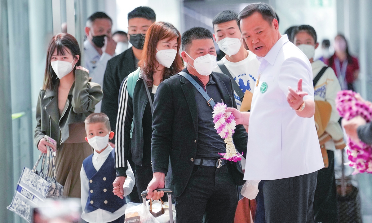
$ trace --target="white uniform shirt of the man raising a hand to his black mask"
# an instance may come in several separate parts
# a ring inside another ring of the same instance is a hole
[[[113,55],[115,56],[115,55]],[[89,77],[92,77],[92,81],[101,85],[103,88],[103,76],[105,75],[106,65],[109,59],[113,56],[106,54],[99,55],[96,48],[87,39],[84,41],[84,65],[83,67],[89,70]],[[102,101],[96,104],[96,110],[94,112],[101,112]]]

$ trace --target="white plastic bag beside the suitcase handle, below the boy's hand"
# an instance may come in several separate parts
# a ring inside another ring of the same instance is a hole
[[[124,223],[159,223],[158,220],[141,203],[129,202],[125,209]]]

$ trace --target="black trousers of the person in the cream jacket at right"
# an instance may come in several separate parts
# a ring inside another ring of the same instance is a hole
[[[334,153],[327,150],[328,168],[318,171],[314,196],[315,222],[337,223],[336,181],[334,179]]]

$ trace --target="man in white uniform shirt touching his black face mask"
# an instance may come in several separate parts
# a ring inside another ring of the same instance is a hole
[[[104,12],[93,13],[85,27],[87,39],[84,42],[84,67],[101,87],[107,62],[115,55],[116,43],[112,39],[111,28],[112,19]],[[101,101],[94,111],[101,111]]]

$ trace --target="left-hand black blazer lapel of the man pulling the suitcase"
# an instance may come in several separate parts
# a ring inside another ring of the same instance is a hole
[[[189,106],[192,122],[194,123],[195,132],[198,132],[198,111],[196,110],[194,86],[184,77],[181,77],[181,88],[185,94],[187,105]]]

